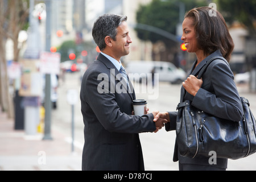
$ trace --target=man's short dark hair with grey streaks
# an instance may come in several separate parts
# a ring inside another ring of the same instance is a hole
[[[104,14],[94,22],[92,36],[101,51],[106,47],[105,37],[110,36],[115,40],[117,27],[126,20],[127,16],[124,15]]]

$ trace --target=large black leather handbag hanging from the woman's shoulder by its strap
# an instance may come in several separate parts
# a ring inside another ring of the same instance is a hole
[[[197,78],[201,78],[215,59],[226,61],[223,57],[213,57]],[[181,156],[209,158],[213,151],[217,158],[240,159],[256,152],[256,123],[246,98],[241,97],[243,118],[240,122],[214,117],[193,107],[191,102],[177,105],[176,139]]]

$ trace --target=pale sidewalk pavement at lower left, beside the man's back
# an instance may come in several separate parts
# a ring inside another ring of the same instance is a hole
[[[0,111],[0,171],[80,171],[80,148],[71,152],[70,135],[52,127],[53,140],[14,130],[13,119]]]

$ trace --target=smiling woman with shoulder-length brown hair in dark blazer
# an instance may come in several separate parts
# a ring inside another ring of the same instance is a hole
[[[214,11],[213,14],[210,14],[211,11]],[[193,76],[197,75],[212,57],[223,56],[226,60],[230,60],[234,44],[223,16],[209,7],[192,9],[185,15],[181,40],[185,43],[187,52],[196,53],[197,60],[183,82],[180,101],[191,100],[193,106],[209,114],[240,121],[242,104],[233,81],[233,73],[225,61],[214,60],[200,80]],[[176,129],[176,111],[159,113],[155,121],[159,117],[168,119],[167,131]],[[228,159],[217,158],[216,164],[209,164],[209,158],[192,159],[181,156],[179,143],[175,144],[174,162],[179,160],[181,171],[225,170],[227,168]]]

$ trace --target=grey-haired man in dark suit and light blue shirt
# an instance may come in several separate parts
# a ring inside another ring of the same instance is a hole
[[[93,39],[101,53],[81,84],[82,170],[144,170],[138,133],[157,131],[167,122],[153,122],[156,111],[132,115],[133,86],[119,72],[121,56],[129,54],[132,42],[126,20],[126,16],[105,14],[94,22]]]

